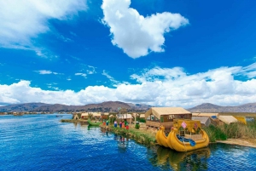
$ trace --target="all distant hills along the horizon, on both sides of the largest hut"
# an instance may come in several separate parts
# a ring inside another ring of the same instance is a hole
[[[144,112],[148,111],[150,105],[124,103],[121,101],[106,101],[99,104],[89,105],[61,105],[61,104],[45,104],[45,103],[25,103],[17,105],[0,106],[0,112],[73,112],[73,111],[119,111],[124,108],[127,111]],[[196,105],[187,109],[190,112],[256,112],[256,103],[248,103],[236,106],[221,106],[211,103]]]

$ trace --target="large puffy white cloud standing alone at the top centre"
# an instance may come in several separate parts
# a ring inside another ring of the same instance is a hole
[[[189,24],[181,14],[168,12],[143,17],[130,4],[131,0],[103,0],[102,23],[110,27],[113,45],[131,58],[163,52],[164,34]]]

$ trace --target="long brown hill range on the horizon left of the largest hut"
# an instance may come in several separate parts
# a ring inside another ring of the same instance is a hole
[[[131,104],[120,101],[107,101],[99,104],[89,105],[49,105],[44,103],[26,103],[18,105],[0,106],[0,112],[73,112],[73,111],[119,111],[125,108],[127,111],[148,111],[150,105]]]

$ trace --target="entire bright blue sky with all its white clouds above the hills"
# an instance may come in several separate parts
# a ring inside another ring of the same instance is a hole
[[[0,105],[256,102],[256,2],[0,0]]]

